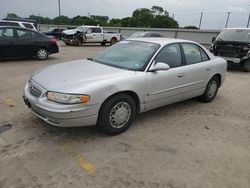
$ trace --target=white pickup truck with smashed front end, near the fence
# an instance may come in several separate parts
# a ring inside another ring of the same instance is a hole
[[[115,44],[121,40],[120,33],[104,32],[102,27],[98,26],[80,26],[76,29],[64,30],[62,40],[66,45],[82,46],[84,43],[100,43],[105,45]]]

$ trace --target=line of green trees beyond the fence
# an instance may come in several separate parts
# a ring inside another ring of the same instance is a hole
[[[18,18],[14,13],[7,14],[8,18]],[[108,16],[77,15],[73,18],[68,16],[57,16],[53,19],[49,17],[30,15],[29,19],[36,20],[39,24],[56,24],[56,25],[100,25],[111,27],[151,27],[151,28],[179,28],[178,22],[169,16],[167,10],[160,6],[153,6],[151,9],[139,8],[133,11],[131,17],[122,19]],[[196,29],[195,26],[187,26],[187,29]]]

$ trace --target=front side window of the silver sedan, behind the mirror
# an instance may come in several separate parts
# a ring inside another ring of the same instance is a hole
[[[166,63],[170,68],[179,67],[182,65],[181,49],[179,44],[171,44],[164,47],[157,57],[155,62]]]

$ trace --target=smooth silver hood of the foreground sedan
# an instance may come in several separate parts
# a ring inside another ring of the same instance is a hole
[[[74,93],[81,92],[79,89],[94,82],[131,74],[135,74],[135,72],[89,60],[76,60],[40,69],[32,75],[32,80],[46,90]]]

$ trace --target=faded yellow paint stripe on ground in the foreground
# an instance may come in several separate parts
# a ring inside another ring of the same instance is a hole
[[[62,144],[63,149],[75,160],[77,160],[80,164],[80,166],[86,170],[88,173],[94,172],[96,169],[96,166],[89,162],[85,157],[81,155],[81,153],[77,152],[75,149],[73,149],[69,144]]]

